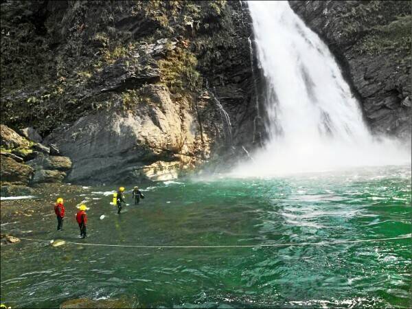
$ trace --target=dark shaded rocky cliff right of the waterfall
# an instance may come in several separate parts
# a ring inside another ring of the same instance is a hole
[[[373,133],[411,140],[411,1],[290,1],[336,56]]]

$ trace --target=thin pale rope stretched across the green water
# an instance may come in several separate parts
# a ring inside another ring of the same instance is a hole
[[[400,236],[392,238],[378,238],[366,240],[336,240],[332,242],[290,242],[287,244],[233,244],[233,245],[216,245],[216,246],[146,246],[143,244],[93,244],[89,242],[69,242],[67,244],[81,244],[83,246],[100,246],[100,247],[124,247],[124,248],[256,248],[256,247],[287,247],[287,246],[327,246],[330,244],[350,244],[356,242],[383,242],[386,240],[411,239],[411,236]],[[31,240],[35,242],[50,242],[50,240],[20,238],[22,240]]]

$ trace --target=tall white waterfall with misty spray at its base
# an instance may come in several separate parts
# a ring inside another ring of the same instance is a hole
[[[268,141],[233,174],[270,176],[410,162],[409,152],[395,142],[374,140],[328,47],[288,1],[248,4],[266,78]]]

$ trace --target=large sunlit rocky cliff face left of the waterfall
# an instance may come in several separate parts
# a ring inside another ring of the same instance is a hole
[[[244,10],[3,1],[1,123],[56,144],[73,182],[170,179],[243,152],[260,143]]]

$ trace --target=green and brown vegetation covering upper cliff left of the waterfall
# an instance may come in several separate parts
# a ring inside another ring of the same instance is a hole
[[[96,76],[116,63],[127,67],[133,57],[151,57],[158,82],[190,98],[223,50],[235,47],[232,23],[227,1],[5,1],[1,122],[47,134],[102,102],[115,104],[116,93],[126,108],[134,106],[132,100],[145,99],[138,98],[139,85],[96,90]],[[161,54],[144,50],[164,39]]]

